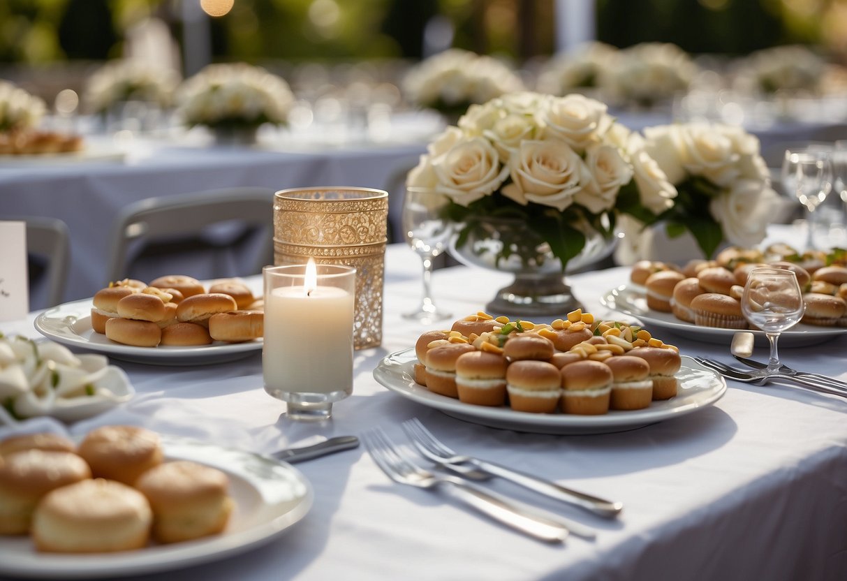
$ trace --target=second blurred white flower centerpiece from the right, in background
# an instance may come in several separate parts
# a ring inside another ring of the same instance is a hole
[[[688,91],[696,73],[697,65],[675,44],[642,42],[615,53],[600,86],[616,105],[650,108]]]

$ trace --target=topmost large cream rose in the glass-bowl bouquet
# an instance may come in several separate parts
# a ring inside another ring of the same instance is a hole
[[[600,141],[614,120],[605,104],[577,94],[552,97],[542,116],[548,136],[579,151]]]

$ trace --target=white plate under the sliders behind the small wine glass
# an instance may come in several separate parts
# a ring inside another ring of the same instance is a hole
[[[698,327],[692,323],[686,323],[674,316],[673,313],[662,313],[647,307],[647,299],[644,287],[634,285],[621,285],[616,289],[609,290],[600,297],[604,307],[620,313],[637,318],[650,330],[662,329],[675,335],[681,335],[686,339],[699,340],[706,343],[716,343],[728,346],[733,341],[733,335],[737,329],[719,329],[717,327]],[[761,331],[751,331],[756,335],[757,346],[767,346],[767,337]],[[817,345],[839,335],[847,333],[845,327],[816,327],[810,324],[796,324],[779,335],[780,347],[802,347]]]

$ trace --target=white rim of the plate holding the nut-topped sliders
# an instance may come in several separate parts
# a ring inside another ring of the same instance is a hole
[[[376,379],[379,385],[401,396],[405,396],[407,399],[417,401],[428,407],[435,407],[441,412],[448,413],[448,415],[452,415],[455,412],[463,416],[473,417],[474,422],[493,427],[502,427],[504,423],[512,423],[527,431],[542,428],[563,430],[590,429],[593,431],[597,429],[609,429],[608,431],[619,431],[619,429],[635,428],[650,423],[661,422],[666,419],[678,418],[690,412],[695,412],[698,409],[711,407],[727,392],[727,383],[719,373],[704,368],[691,357],[684,355],[681,356],[684,368],[708,373],[715,379],[718,385],[717,388],[711,390],[711,394],[703,401],[688,401],[669,409],[650,410],[647,408],[647,410],[627,412],[613,411],[599,416],[580,416],[567,413],[516,412],[503,407],[474,406],[473,404],[462,403],[462,401],[458,401],[452,397],[435,394],[427,390],[423,385],[415,383],[411,370],[404,369],[401,371],[401,373],[406,374],[406,378],[398,378],[400,380],[395,381],[394,378],[396,377],[396,368],[398,366],[400,368],[411,366],[413,361],[417,360],[414,351],[414,347],[409,347],[383,357],[376,368],[374,368],[374,379]],[[486,420],[493,423],[486,423]],[[556,433],[567,434],[567,431]],[[580,431],[573,433],[584,434],[586,432]]]

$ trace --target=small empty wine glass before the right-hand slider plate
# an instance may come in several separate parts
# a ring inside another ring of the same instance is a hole
[[[741,313],[750,324],[765,332],[771,344],[767,368],[756,374],[778,372],[782,365],[777,351],[779,335],[797,324],[804,311],[803,292],[793,270],[764,267],[750,271],[741,296]]]

